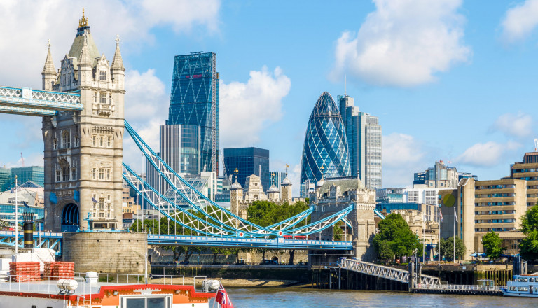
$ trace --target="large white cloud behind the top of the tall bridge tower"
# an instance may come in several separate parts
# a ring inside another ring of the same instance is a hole
[[[95,0],[84,7],[97,48],[108,59],[116,47],[116,34],[133,50],[153,41],[154,27],[183,32],[202,25],[216,31],[219,25],[219,0]],[[47,40],[59,67],[76,34],[81,8],[80,2],[68,0],[0,1],[0,54],[8,59],[0,62],[0,71],[6,72],[0,85],[41,88]]]

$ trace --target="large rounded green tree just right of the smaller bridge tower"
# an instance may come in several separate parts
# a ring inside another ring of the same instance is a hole
[[[419,241],[400,214],[389,214],[378,224],[379,232],[373,237],[373,245],[380,258],[392,251],[394,257],[412,255],[419,248]],[[382,241],[386,241],[382,243]],[[390,251],[387,249],[387,245]]]

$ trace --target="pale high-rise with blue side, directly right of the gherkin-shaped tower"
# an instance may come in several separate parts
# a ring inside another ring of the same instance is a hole
[[[349,145],[351,174],[358,174],[367,188],[381,188],[382,136],[378,117],[360,112],[347,94],[338,96],[338,106]]]

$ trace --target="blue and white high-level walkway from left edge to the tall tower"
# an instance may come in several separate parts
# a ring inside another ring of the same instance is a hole
[[[81,111],[79,92],[50,92],[29,87],[0,87],[0,113],[53,116],[57,111]]]

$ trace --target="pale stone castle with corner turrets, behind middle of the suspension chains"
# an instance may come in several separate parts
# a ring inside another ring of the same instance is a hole
[[[243,219],[247,219],[247,210],[254,201],[268,201],[276,204],[284,204],[284,202],[294,204],[298,201],[291,197],[292,185],[287,176],[282,180],[280,186],[281,190],[279,191],[273,184],[267,190],[267,194],[265,194],[263,193],[263,186],[261,185],[259,176],[255,174],[247,176],[244,188],[241,187],[236,179],[232,186],[230,186],[230,209],[232,213]]]

